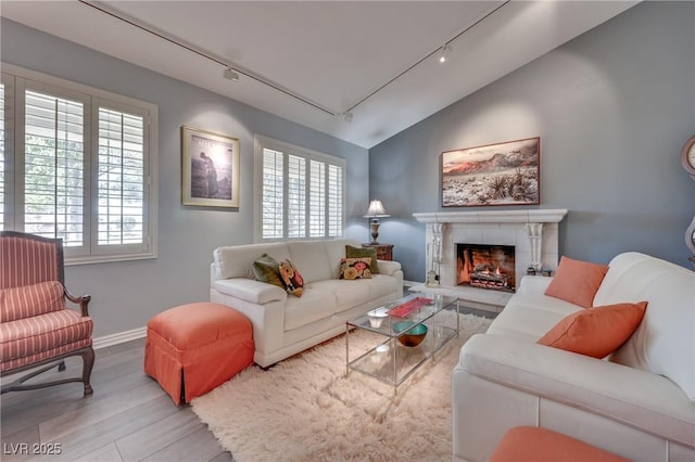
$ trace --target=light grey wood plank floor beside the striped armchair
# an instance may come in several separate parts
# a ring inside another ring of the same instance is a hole
[[[190,407],[176,407],[144,374],[143,351],[144,339],[97,350],[94,394],[86,398],[81,383],[1,395],[0,459],[232,461]],[[81,359],[74,358],[64,372],[51,370],[42,376],[80,373]],[[46,446],[34,446],[40,444]],[[59,455],[31,454],[34,449],[55,450],[56,445]]]

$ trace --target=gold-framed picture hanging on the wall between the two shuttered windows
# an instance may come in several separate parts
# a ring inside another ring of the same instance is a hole
[[[239,207],[239,139],[181,127],[184,205]]]

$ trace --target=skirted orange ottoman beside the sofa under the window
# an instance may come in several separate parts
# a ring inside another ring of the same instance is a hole
[[[222,385],[253,362],[251,321],[225,305],[167,309],[148,322],[144,372],[178,406]]]

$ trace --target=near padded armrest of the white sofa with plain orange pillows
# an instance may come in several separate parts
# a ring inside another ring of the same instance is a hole
[[[462,348],[457,372],[695,446],[695,402],[673,382],[647,371],[518,338],[479,334]]]

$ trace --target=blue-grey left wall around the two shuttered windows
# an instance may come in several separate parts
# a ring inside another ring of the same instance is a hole
[[[210,299],[213,249],[253,242],[255,133],[344,158],[348,236],[365,239],[367,150],[5,18],[0,26],[2,62],[159,105],[159,258],[66,268],[71,291],[92,295],[94,336],[142,328],[166,308]],[[181,205],[181,125],[240,139],[238,210]]]

